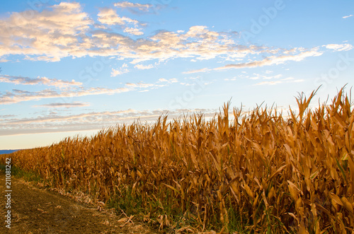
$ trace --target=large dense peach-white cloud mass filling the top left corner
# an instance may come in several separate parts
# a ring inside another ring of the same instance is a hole
[[[46,61],[76,57],[75,51],[84,49],[79,38],[86,40],[92,23],[79,3],[62,2],[41,12],[13,12],[0,20],[0,58],[6,54]]]

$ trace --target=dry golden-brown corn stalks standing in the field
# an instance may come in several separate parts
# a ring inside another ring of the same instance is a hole
[[[163,116],[11,157],[167,230],[353,233],[354,110],[343,89],[308,110],[313,95],[290,119],[260,108],[229,118],[228,103],[208,121]]]

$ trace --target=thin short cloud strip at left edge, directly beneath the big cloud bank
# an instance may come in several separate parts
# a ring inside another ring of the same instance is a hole
[[[72,81],[62,81],[56,78],[47,78],[40,77],[37,78],[28,78],[22,76],[8,76],[8,75],[0,75],[0,82],[5,83],[14,83],[17,85],[38,85],[42,84],[45,86],[55,86],[58,88],[68,87],[68,86],[81,86],[81,82]]]

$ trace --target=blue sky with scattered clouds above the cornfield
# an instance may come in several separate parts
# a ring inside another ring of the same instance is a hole
[[[204,112],[295,107],[354,74],[353,1],[7,1],[0,149]]]

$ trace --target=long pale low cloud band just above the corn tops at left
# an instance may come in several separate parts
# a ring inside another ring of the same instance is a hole
[[[142,90],[144,91],[144,90]],[[59,113],[58,113],[59,112]],[[169,119],[181,117],[185,113],[203,112],[205,117],[213,117],[217,110],[116,110],[111,112],[86,112],[79,115],[60,115],[62,110],[50,115],[23,119],[0,119],[0,136],[58,131],[84,131],[108,128],[117,123],[132,123],[139,118],[142,122],[155,122],[168,112]]]

